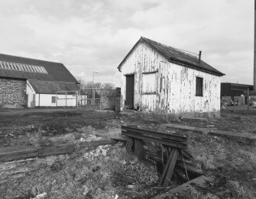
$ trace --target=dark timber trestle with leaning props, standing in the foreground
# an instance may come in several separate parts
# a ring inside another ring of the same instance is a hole
[[[137,127],[122,126],[122,135],[127,136],[127,152],[134,152],[138,159],[153,159],[162,165],[162,174],[159,185],[167,186],[176,168],[177,174],[181,178],[189,180],[190,174],[193,178],[202,175],[196,165],[189,162],[193,156],[187,149],[186,136],[177,134],[161,133],[153,130],[144,130]],[[161,152],[154,152],[145,143],[157,143],[160,145]],[[185,170],[184,176],[180,170]]]

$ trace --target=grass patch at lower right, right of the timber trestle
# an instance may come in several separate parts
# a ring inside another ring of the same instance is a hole
[[[203,134],[192,134],[189,146],[203,172],[215,178],[207,192],[195,191],[194,198],[256,198],[255,146]]]

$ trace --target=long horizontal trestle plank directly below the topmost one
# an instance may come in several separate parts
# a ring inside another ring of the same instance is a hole
[[[153,138],[151,136],[138,135],[136,133],[131,133],[131,132],[122,132],[122,134],[125,135],[125,136],[132,137],[132,138],[136,138],[136,139],[140,139],[140,140],[147,140],[147,141],[154,142],[154,143],[160,143],[160,144],[164,144],[164,145],[167,145],[167,146],[172,146],[172,147],[179,148],[179,149],[186,149],[187,148],[185,143],[174,143],[174,142],[170,142],[170,141],[167,141],[167,140],[161,140],[157,137]]]

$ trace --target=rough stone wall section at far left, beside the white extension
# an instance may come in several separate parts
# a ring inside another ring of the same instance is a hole
[[[5,104],[26,106],[26,80],[0,78],[0,107]]]

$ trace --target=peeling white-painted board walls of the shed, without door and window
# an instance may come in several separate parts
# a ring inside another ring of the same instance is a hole
[[[125,75],[131,74],[134,74],[134,108],[172,114],[219,114],[217,75],[170,63],[147,44],[138,43],[122,64],[122,108],[125,108]],[[196,77],[203,78],[203,97],[196,96]]]

